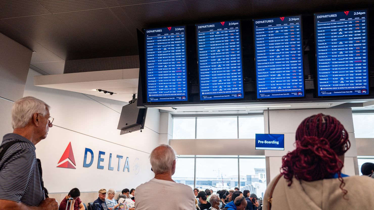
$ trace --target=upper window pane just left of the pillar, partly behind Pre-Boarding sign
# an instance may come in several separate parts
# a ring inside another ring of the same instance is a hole
[[[239,138],[255,138],[264,133],[264,117],[239,117]]]

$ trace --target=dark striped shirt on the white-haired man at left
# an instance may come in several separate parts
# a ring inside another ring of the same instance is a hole
[[[39,206],[45,199],[40,182],[35,146],[18,134],[6,134],[3,142],[21,140],[12,144],[0,160],[0,199]]]

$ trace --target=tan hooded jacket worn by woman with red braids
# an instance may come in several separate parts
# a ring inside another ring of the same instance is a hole
[[[277,176],[278,177],[278,176]],[[368,176],[343,178],[344,189],[348,191],[344,200],[338,179],[322,179],[306,182],[293,179],[288,181],[282,176],[273,192],[271,210],[371,210],[374,209],[374,180]],[[267,186],[263,210],[268,210],[268,198],[276,178]]]

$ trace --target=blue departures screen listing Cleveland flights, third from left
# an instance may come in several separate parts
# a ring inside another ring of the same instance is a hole
[[[304,96],[301,16],[254,19],[257,98]]]

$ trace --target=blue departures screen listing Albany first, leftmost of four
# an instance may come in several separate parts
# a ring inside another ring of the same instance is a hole
[[[145,29],[147,102],[187,101],[186,26]]]

